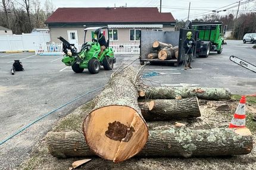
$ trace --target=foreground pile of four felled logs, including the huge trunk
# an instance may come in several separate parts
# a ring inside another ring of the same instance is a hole
[[[148,130],[147,121],[199,117],[198,98],[228,100],[220,88],[138,86],[137,71],[126,68],[111,76],[97,104],[75,131],[49,132],[49,152],[57,158],[98,155],[113,162],[132,156],[244,155],[252,150],[252,134],[241,129],[189,129],[186,126]],[[143,100],[139,100],[141,97]],[[86,139],[86,140],[85,140]]]

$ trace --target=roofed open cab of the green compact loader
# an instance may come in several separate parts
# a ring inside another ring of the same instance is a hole
[[[105,37],[106,43],[107,43],[107,48],[110,46],[110,34],[108,27],[88,27],[85,28],[85,38],[84,38],[84,43],[87,43],[89,41],[95,41],[95,43],[98,43],[99,39],[94,39],[94,33],[96,30],[99,30],[97,37],[99,37],[100,33],[102,33]]]

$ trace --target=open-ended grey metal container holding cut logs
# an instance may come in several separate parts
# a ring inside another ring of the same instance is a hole
[[[144,62],[152,63],[173,63],[174,66],[179,65],[179,63],[185,60],[185,50],[183,49],[183,42],[186,39],[186,33],[191,31],[193,34],[193,39],[197,39],[198,33],[196,30],[180,29],[180,31],[141,31],[141,55],[140,62],[141,65]],[[179,46],[179,56],[177,59],[170,60],[160,60],[160,59],[148,59],[148,54],[151,52],[152,43],[154,41],[161,41],[163,43],[169,43],[173,46]],[[193,52],[195,55],[195,47],[193,47]]]

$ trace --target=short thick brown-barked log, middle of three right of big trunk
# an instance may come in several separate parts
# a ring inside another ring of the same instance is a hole
[[[171,120],[201,116],[196,97],[182,100],[152,100],[139,103],[139,108],[145,120]]]

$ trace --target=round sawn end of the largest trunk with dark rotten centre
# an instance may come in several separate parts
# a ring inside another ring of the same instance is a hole
[[[114,162],[136,155],[148,139],[148,127],[130,107],[109,105],[92,111],[83,124],[90,149]]]

